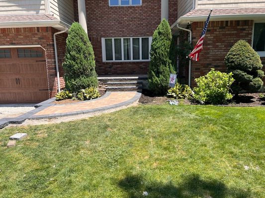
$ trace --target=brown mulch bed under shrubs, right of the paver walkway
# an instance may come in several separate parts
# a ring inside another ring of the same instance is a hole
[[[154,96],[149,90],[143,90],[139,103],[142,104],[164,104],[169,98],[165,96]],[[178,99],[182,104],[200,104],[194,100]],[[260,98],[260,93],[239,94],[225,105],[231,106],[260,106],[265,105],[265,98]]]

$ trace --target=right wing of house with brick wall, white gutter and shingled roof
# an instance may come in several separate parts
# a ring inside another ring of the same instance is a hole
[[[265,65],[265,0],[178,0],[178,18],[172,25],[190,25],[191,40],[196,45],[204,22],[213,9],[199,61],[191,61],[190,84],[211,68],[226,71],[224,58],[238,40],[246,40]],[[265,71],[265,67],[263,68]]]

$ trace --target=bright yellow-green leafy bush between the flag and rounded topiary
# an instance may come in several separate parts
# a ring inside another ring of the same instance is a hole
[[[196,78],[197,87],[194,88],[194,98],[212,104],[222,104],[233,96],[229,89],[234,82],[232,73],[222,73],[211,69],[205,76]]]

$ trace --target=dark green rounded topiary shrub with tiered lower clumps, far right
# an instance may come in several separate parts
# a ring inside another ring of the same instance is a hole
[[[262,61],[259,54],[243,40],[238,41],[227,53],[225,64],[235,79],[231,89],[238,95],[240,91],[257,92],[263,86]]]

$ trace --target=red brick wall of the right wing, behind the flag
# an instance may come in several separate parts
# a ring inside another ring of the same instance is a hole
[[[192,23],[192,43],[195,46],[202,32],[204,22]],[[251,44],[253,21],[212,21],[204,39],[203,50],[199,61],[192,61],[191,86],[194,79],[205,75],[211,68],[225,72],[224,58],[238,40],[246,40]],[[265,65],[265,58],[262,58]],[[264,67],[265,70],[265,67]]]

